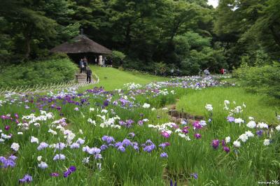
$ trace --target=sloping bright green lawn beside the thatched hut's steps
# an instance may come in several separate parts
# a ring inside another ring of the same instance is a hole
[[[160,76],[153,76],[149,74],[120,71],[114,68],[106,68],[100,66],[90,66],[92,72],[99,77],[99,83],[96,85],[89,85],[81,87],[80,90],[87,90],[92,87],[104,87],[105,90],[114,90],[122,88],[125,83],[138,83],[141,85],[151,83],[153,81],[163,81],[169,78],[163,78]]]

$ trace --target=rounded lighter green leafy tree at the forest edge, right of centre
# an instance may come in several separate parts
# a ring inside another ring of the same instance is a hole
[[[211,48],[211,38],[188,31],[174,38],[176,55],[183,75],[195,75],[209,68],[218,73],[222,68],[228,69],[223,50]]]

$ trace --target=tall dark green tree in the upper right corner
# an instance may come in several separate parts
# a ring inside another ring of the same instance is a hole
[[[269,56],[266,62],[279,59],[279,8],[277,0],[219,2],[214,31],[230,66],[239,66],[242,56],[255,63],[260,52]]]

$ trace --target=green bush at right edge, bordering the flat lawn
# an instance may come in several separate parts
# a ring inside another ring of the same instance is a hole
[[[241,85],[251,92],[264,93],[280,99],[280,64],[266,66],[241,65],[235,71]]]

